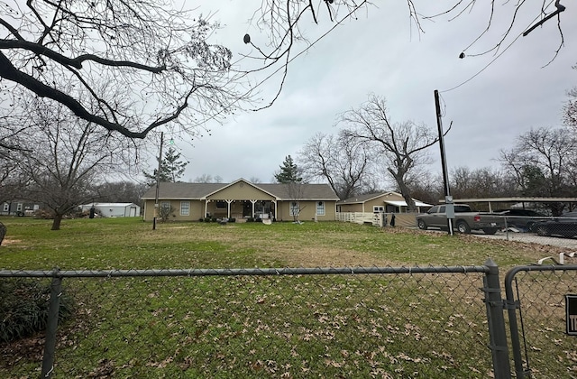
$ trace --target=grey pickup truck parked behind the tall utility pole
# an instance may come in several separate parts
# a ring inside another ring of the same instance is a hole
[[[426,230],[429,226],[447,228],[446,206],[436,205],[426,213],[417,215],[417,226]],[[474,212],[466,204],[454,205],[453,226],[460,233],[471,233],[472,230],[482,230],[486,235],[494,235],[503,227],[503,217],[495,213]]]

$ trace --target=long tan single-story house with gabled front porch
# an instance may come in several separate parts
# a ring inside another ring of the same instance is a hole
[[[252,183],[242,178],[232,183],[159,184],[158,207],[169,211],[169,218],[175,221],[204,217],[334,221],[339,200],[328,184]],[[155,217],[156,186],[148,189],[142,200],[143,219],[151,221]]]

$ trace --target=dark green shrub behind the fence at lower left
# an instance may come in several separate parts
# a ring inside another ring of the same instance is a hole
[[[50,285],[37,280],[4,278],[0,281],[0,342],[30,337],[46,328]],[[72,299],[60,297],[59,320],[69,319]]]

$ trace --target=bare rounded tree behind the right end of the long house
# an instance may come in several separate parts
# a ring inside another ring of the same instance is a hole
[[[369,145],[343,134],[318,133],[298,153],[298,166],[313,180],[327,180],[340,199],[348,199],[370,180]]]

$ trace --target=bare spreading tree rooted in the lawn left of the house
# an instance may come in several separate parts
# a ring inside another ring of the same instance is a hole
[[[22,168],[31,183],[26,198],[50,209],[52,230],[81,204],[97,197],[96,185],[133,160],[137,146],[128,138],[112,134],[99,125],[71,115],[49,99],[25,100],[29,116],[26,139],[33,150],[22,152]]]

